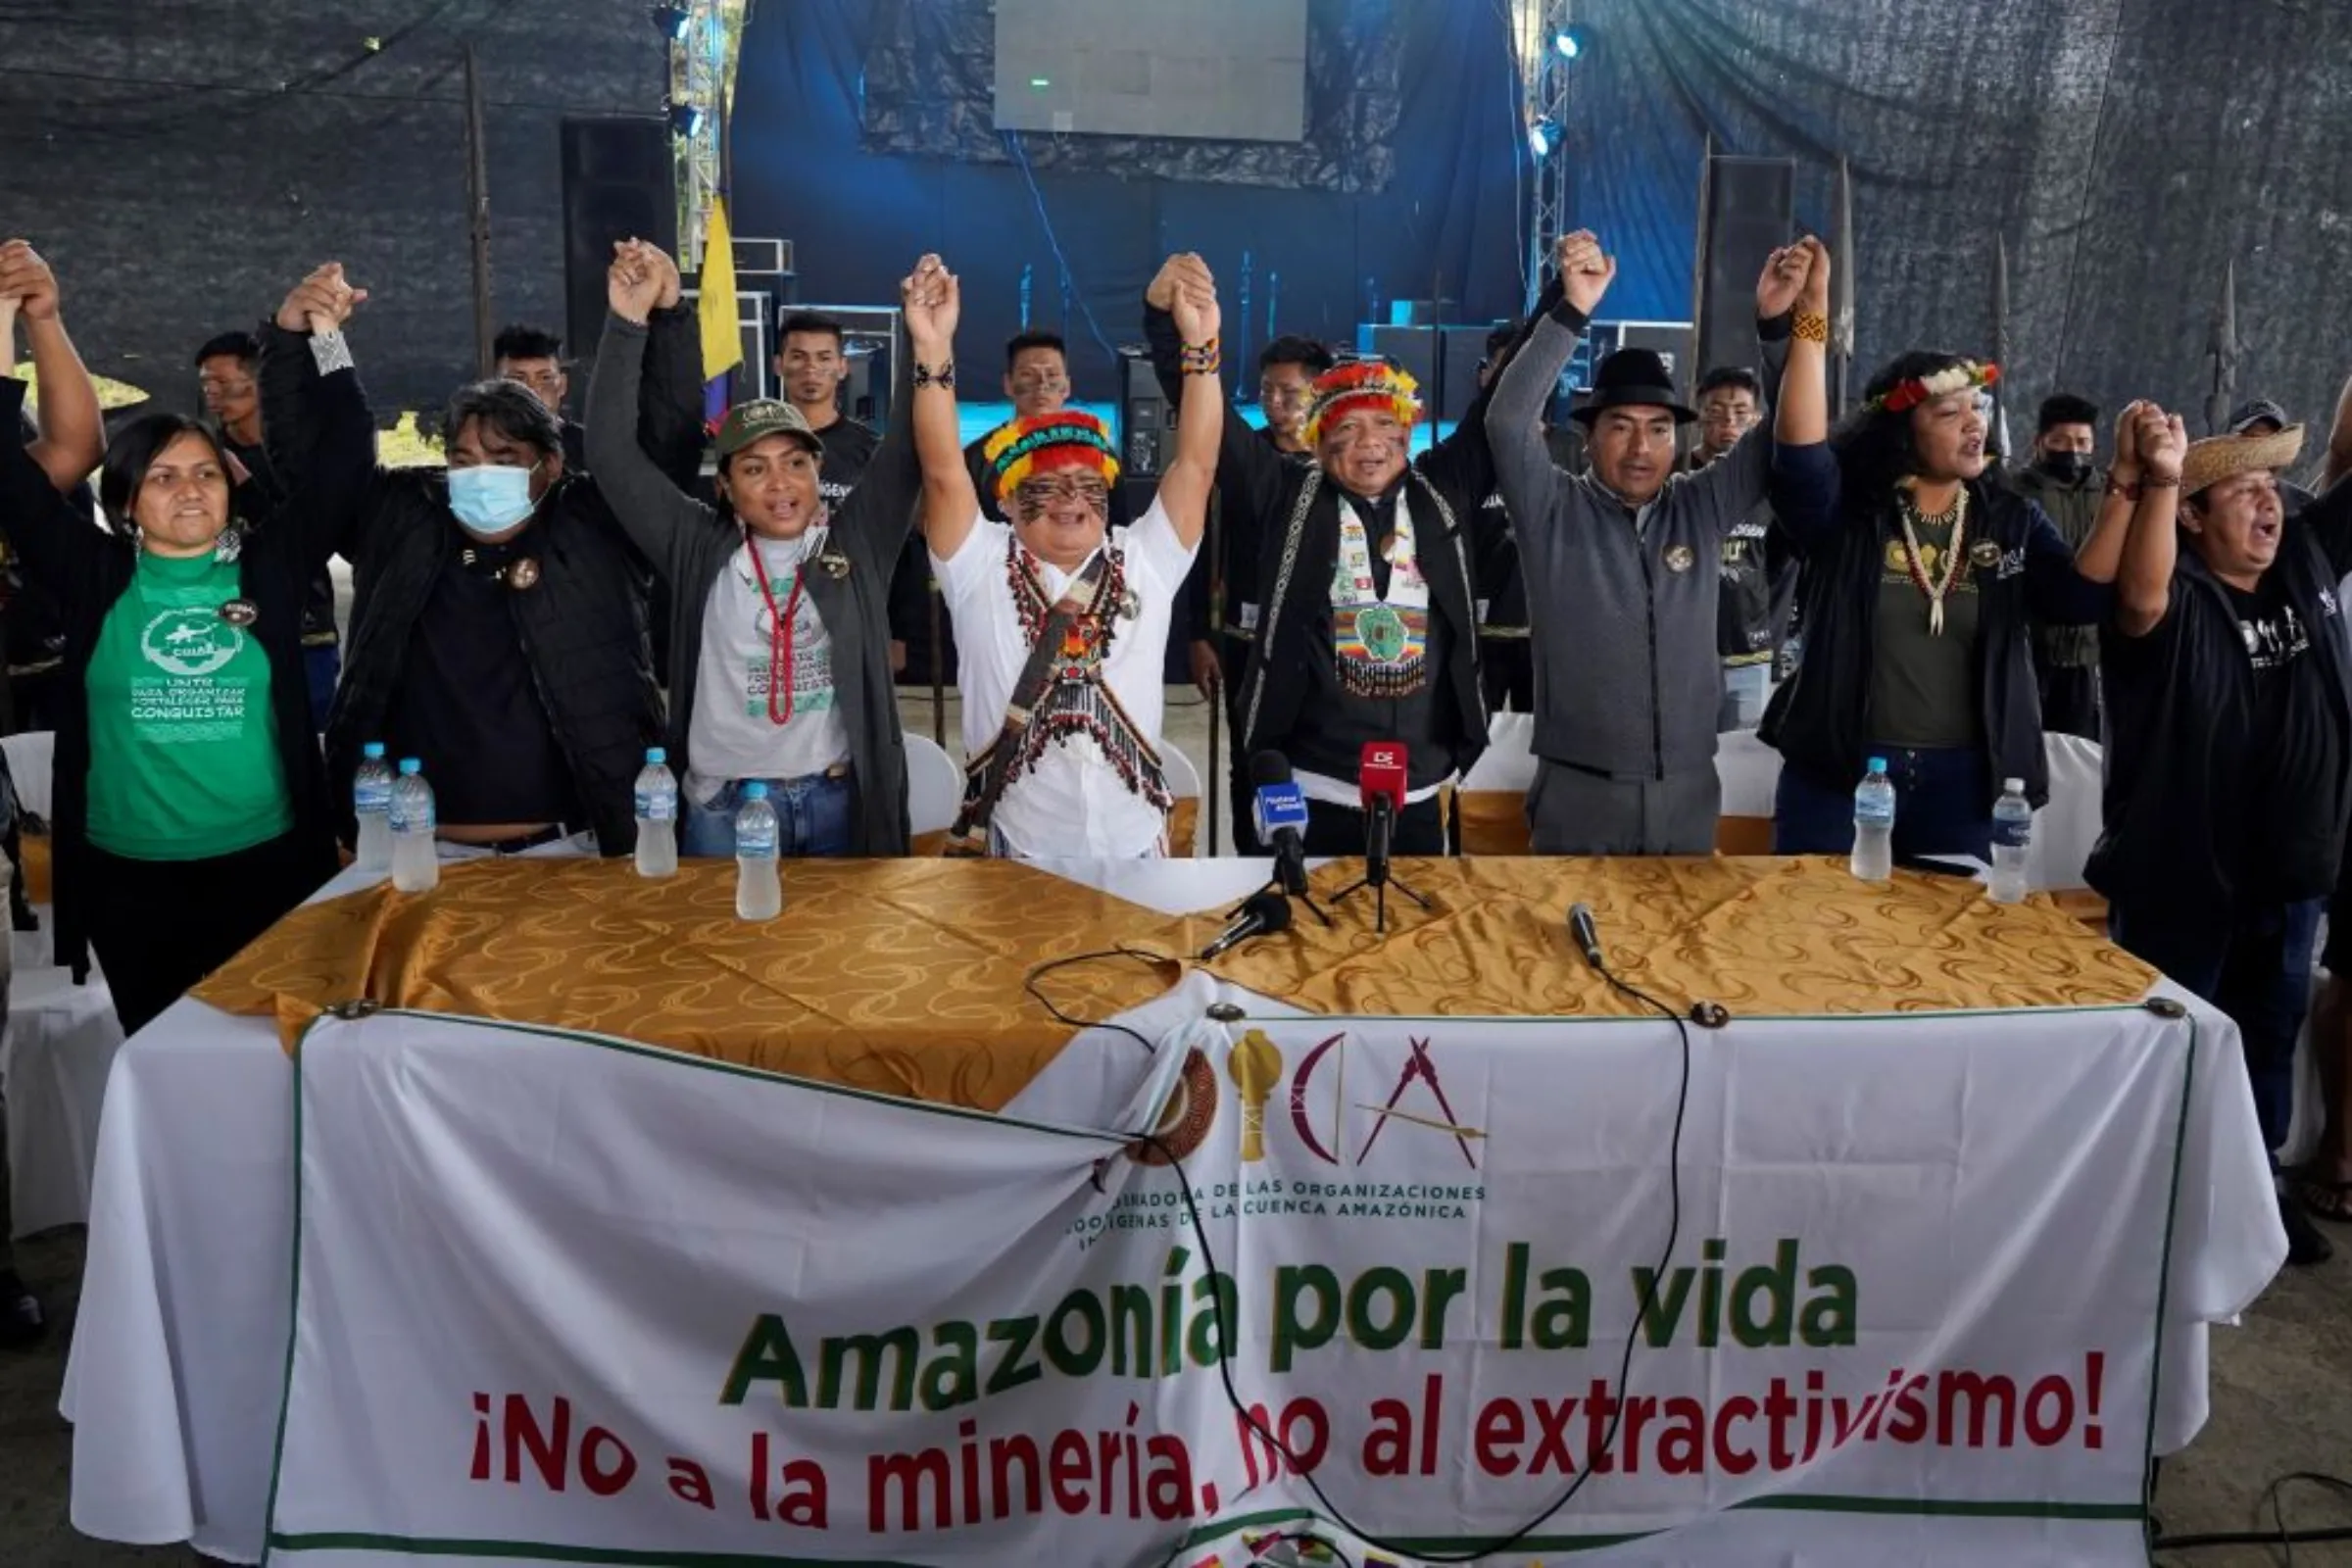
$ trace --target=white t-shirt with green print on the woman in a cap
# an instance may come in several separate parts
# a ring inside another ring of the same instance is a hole
[[[797,571],[826,548],[826,529],[800,538],[760,538],[776,607],[793,599]],[[689,614],[684,604],[680,614]],[[849,762],[849,726],[833,701],[833,635],[807,592],[793,607],[790,684],[776,691],[776,712],[793,698],[790,719],[769,717],[769,658],[774,616],[750,550],[736,550],[703,602],[703,651],[694,665],[694,771],[687,795],[708,802],[729,778],[807,778]]]

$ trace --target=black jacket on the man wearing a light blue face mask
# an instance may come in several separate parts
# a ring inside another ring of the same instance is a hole
[[[656,313],[654,367],[640,440],[668,473],[687,475],[701,442],[701,350],[691,310]],[[463,548],[440,468],[376,468],[374,418],[355,369],[320,376],[303,334],[266,327],[261,418],[270,456],[310,498],[318,527],[353,567],[343,684],[327,715],[327,776],[336,820],[355,832],[350,778],[360,748],[379,741],[407,668],[409,632]],[[635,780],[644,750],[661,745],[640,562],[583,475],[567,473],[534,522],[539,583],[506,595],[532,661],[539,701],[597,849],[623,856],[637,842]]]

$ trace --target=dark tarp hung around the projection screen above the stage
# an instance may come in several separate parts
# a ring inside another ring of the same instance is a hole
[[[889,0],[877,12],[866,49],[866,150],[1007,162],[1007,143],[995,127],[993,0]],[[1105,26],[1117,26],[1108,5]],[[1402,42],[1404,28],[1388,5],[1312,0],[1308,134],[1296,143],[1030,136],[1025,150],[1033,167],[1070,174],[1383,190],[1397,172]]]

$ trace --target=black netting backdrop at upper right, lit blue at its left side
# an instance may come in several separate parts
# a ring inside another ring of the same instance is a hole
[[[1571,212],[1621,256],[1606,315],[1691,306],[1698,165],[1799,160],[1830,233],[1853,167],[1856,386],[1917,346],[1992,350],[2011,421],[2065,388],[2201,430],[2237,263],[2239,395],[2326,421],[2352,362],[2352,7],[2340,0],[1588,0]],[[2020,433],[2023,440],[2025,433]]]

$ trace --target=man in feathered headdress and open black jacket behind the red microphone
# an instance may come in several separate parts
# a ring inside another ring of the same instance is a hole
[[[1209,268],[1174,256],[1145,294],[1143,327],[1167,381],[1169,313]],[[1446,849],[1439,790],[1486,750],[1477,576],[1501,512],[1486,512],[1482,390],[1461,425],[1411,458],[1421,395],[1411,376],[1357,360],[1315,378],[1303,444],[1287,461],[1225,409],[1218,496],[1263,524],[1249,668],[1235,693],[1237,757],[1277,750],[1308,797],[1308,853],[1364,851],[1357,773],[1367,743],[1402,743],[1404,811],[1392,849]]]

